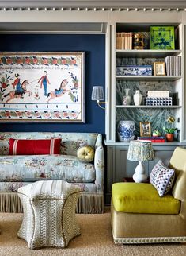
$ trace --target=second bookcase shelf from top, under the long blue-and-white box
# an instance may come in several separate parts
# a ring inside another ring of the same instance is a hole
[[[176,81],[181,79],[181,76],[116,76],[117,80],[164,80],[164,81]]]

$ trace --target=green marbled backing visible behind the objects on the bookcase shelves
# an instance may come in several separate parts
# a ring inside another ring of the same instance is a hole
[[[152,65],[154,61],[164,61],[164,59],[152,59],[152,58],[117,58],[116,66],[123,65]],[[153,72],[154,73],[154,72]],[[144,99],[146,98],[147,91],[170,91],[170,95],[173,96],[173,104],[177,104],[177,95],[173,93],[174,83],[173,81],[135,81],[135,80],[116,80],[116,105],[123,104],[123,95],[125,95],[125,89],[129,88],[131,95],[131,105],[134,105],[133,95],[136,90],[142,93],[142,105],[144,105]],[[139,122],[151,122],[151,130],[160,130],[162,134],[163,126],[167,126],[166,119],[170,115],[175,115],[177,109],[165,109],[165,108],[116,108],[116,130],[118,122],[120,120],[134,120],[135,121],[135,135],[139,136]],[[176,124],[175,124],[176,125]]]

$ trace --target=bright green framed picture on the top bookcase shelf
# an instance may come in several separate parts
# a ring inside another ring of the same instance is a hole
[[[150,49],[174,50],[174,27],[173,26],[151,26],[150,27]]]

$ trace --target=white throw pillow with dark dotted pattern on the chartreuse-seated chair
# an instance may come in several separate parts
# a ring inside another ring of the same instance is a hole
[[[173,187],[175,178],[174,169],[169,169],[160,160],[150,173],[150,183],[157,189],[159,196],[165,196]]]

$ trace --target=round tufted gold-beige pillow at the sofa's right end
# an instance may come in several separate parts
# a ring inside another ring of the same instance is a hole
[[[93,161],[94,149],[91,145],[83,145],[77,150],[77,157],[79,161],[90,163]]]

